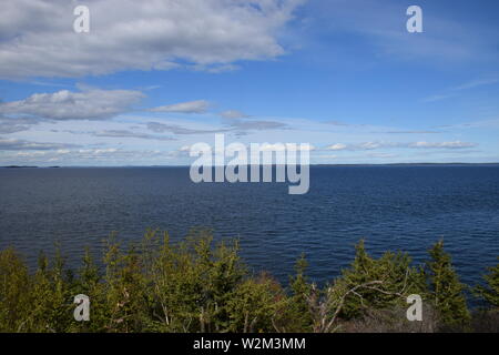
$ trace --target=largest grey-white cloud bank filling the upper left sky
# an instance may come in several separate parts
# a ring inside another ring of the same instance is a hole
[[[88,1],[90,32],[75,33],[75,3],[4,0],[0,78],[81,77],[179,65],[216,72],[285,52],[278,33],[303,0]]]

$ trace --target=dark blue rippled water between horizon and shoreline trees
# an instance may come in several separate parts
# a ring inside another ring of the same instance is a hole
[[[247,264],[284,283],[302,252],[310,277],[330,281],[361,237],[374,255],[404,250],[416,262],[444,239],[470,285],[499,256],[499,165],[313,166],[305,195],[287,183],[194,184],[187,168],[0,169],[0,248],[31,265],[55,241],[79,265],[112,231],[175,240],[193,226],[240,237]]]

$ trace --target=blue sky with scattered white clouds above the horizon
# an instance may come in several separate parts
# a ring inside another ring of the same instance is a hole
[[[497,1],[0,7],[0,165],[186,165],[216,133],[314,164],[499,162]]]

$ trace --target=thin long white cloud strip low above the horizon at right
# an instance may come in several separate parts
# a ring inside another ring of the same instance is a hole
[[[369,151],[388,148],[409,148],[409,149],[467,149],[477,146],[475,143],[454,141],[454,142],[364,142],[356,144],[335,143],[326,146],[330,151]]]

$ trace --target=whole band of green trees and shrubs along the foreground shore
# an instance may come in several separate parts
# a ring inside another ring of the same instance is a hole
[[[499,332],[499,264],[483,271],[483,285],[459,282],[444,243],[421,265],[408,254],[374,258],[364,241],[350,267],[328,285],[307,278],[305,256],[288,285],[248,272],[237,241],[214,243],[192,231],[172,243],[147,231],[122,247],[105,241],[103,266],[89,250],[79,270],[58,252],[43,254],[30,273],[16,250],[0,252],[0,332]],[[467,307],[466,291],[487,307]],[[90,321],[73,317],[74,296],[90,297]],[[420,295],[422,321],[409,322],[409,295]]]

